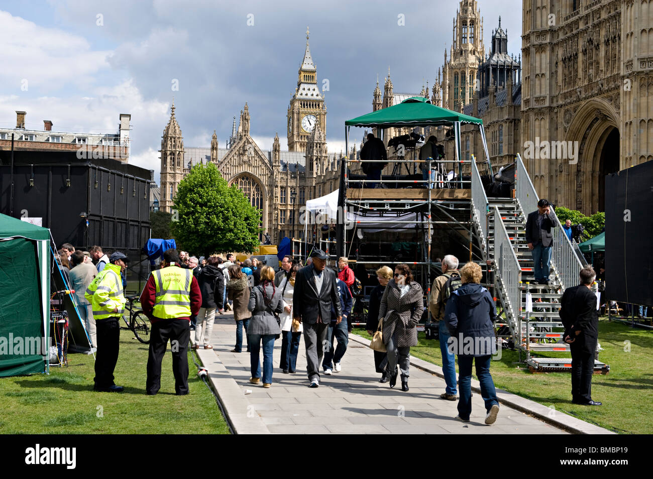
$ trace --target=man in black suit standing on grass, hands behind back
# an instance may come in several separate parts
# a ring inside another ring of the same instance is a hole
[[[599,315],[592,283],[596,273],[592,266],[581,270],[581,284],[565,289],[560,305],[560,319],[565,327],[564,341],[571,348],[571,400],[574,404],[600,406],[592,401],[594,353],[599,338]]]

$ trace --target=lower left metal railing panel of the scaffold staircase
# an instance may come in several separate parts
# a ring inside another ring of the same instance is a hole
[[[518,318],[522,307],[519,283],[522,281],[522,268],[513,249],[505,224],[501,219],[499,208],[494,206],[494,271],[501,281],[503,293],[507,300],[506,311],[509,319],[518,331]]]

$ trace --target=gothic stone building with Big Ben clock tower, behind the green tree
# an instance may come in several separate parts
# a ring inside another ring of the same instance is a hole
[[[308,33],[308,32],[307,32]],[[229,185],[236,184],[251,204],[261,210],[261,225],[273,243],[284,236],[302,238],[300,208],[306,200],[331,193],[340,180],[339,158],[327,152],[326,106],[317,87],[308,35],[295,95],[287,112],[288,146],[281,151],[276,134],[272,150],[261,149],[250,136],[251,116],[245,104],[226,148],[213,134],[210,147],[183,147],[182,131],[174,116],[161,141],[161,211],[170,211],[179,182],[198,162],[213,162]]]

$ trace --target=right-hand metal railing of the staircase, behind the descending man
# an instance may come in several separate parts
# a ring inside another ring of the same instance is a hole
[[[539,197],[519,153],[517,153],[517,159],[515,161],[517,162],[517,168],[515,168],[515,191],[524,217],[526,217],[528,213],[537,209]],[[562,223],[560,223],[560,219],[558,219],[558,215],[556,215],[553,208],[550,208],[549,217],[553,221],[551,266],[556,271],[556,275],[564,291],[565,288],[569,288],[569,286],[578,283],[579,273],[582,270],[582,262],[576,254],[573,244],[569,241],[569,238],[567,238],[567,235],[562,229]]]

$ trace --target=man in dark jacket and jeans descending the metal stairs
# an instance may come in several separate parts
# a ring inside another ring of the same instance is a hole
[[[532,251],[534,262],[535,283],[549,284],[551,263],[551,245],[553,221],[549,218],[549,202],[541,199],[537,202],[537,211],[529,213],[526,219],[526,242]]]

